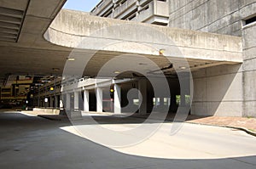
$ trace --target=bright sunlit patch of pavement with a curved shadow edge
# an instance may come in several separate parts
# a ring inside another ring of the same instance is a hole
[[[122,131],[138,125],[140,124],[102,124],[100,126]],[[172,125],[173,123],[163,124],[153,136],[142,143],[123,148],[105,146],[128,155],[165,159],[224,159],[256,155],[256,138],[246,132],[184,123],[179,132],[171,135]],[[71,126],[61,127],[61,129],[96,142],[81,134],[83,130],[93,129],[91,126]],[[136,135],[131,135],[131,137],[136,137]]]

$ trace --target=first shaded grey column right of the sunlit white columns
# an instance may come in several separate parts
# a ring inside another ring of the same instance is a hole
[[[138,81],[138,90],[141,94],[139,94],[139,100],[141,106],[139,108],[139,114],[144,115],[147,113],[147,80],[140,79]]]

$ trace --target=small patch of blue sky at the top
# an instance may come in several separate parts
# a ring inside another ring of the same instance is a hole
[[[101,0],[67,0],[63,8],[90,12]]]

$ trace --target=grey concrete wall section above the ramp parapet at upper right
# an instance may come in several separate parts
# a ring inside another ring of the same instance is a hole
[[[169,25],[241,36],[241,20],[254,11],[255,0],[170,0]]]

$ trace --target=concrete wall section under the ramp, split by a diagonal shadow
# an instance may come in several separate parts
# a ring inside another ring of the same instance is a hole
[[[241,70],[241,65],[220,65],[193,72],[194,99],[191,114],[241,116]]]

